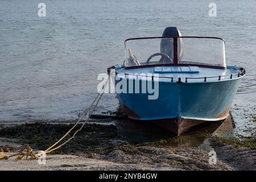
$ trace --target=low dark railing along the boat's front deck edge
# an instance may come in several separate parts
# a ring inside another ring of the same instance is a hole
[[[138,74],[134,74],[134,73],[118,73],[118,72],[115,72],[115,76],[117,75],[124,75],[125,78],[127,76],[136,76],[137,79],[139,76],[141,77],[151,77],[152,81],[154,81],[154,77],[158,77],[158,78],[169,78],[171,80],[171,82],[174,82],[174,77],[166,77],[166,76],[148,76],[148,75],[138,75]],[[218,80],[220,81],[222,77],[229,77],[229,79],[232,79],[234,76],[237,76],[237,77],[240,77],[240,76],[243,76],[245,75],[245,69],[241,68],[241,71],[238,72],[238,73],[234,73],[234,74],[230,74],[230,75],[219,75],[219,76],[208,76],[208,77],[185,77],[185,82],[187,83],[188,80],[195,80],[195,79],[203,79],[204,82],[207,82],[207,78],[218,78]],[[181,77],[179,77],[177,79],[177,82],[178,83],[182,83],[181,81]]]

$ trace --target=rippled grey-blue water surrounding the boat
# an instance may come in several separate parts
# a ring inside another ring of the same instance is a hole
[[[0,121],[77,118],[96,96],[98,73],[123,62],[123,41],[161,36],[168,26],[224,38],[228,65],[247,71],[232,109],[237,128],[256,114],[255,1],[214,1],[212,18],[205,0],[44,0],[46,17],[40,2],[1,0]],[[106,94],[97,111],[115,110],[114,97]]]

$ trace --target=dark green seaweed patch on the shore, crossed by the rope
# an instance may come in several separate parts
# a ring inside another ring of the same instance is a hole
[[[73,124],[25,123],[1,129],[0,137],[14,138],[21,144],[28,144],[38,150],[46,150],[59,138],[63,137],[72,126]],[[81,125],[78,125],[75,130],[80,127]],[[75,130],[67,135],[67,139],[72,137]],[[102,148],[110,145],[110,140],[119,138],[117,128],[113,125],[88,124],[75,138],[51,154],[101,151]]]

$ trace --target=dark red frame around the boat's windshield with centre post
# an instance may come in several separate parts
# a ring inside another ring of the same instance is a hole
[[[129,38],[125,40],[125,54],[126,54],[126,42],[129,40],[143,40],[143,39],[168,39],[172,38],[174,40],[174,63],[170,64],[148,64],[148,65],[136,65],[136,66],[130,66],[126,67],[125,69],[134,69],[134,68],[145,68],[145,67],[160,67],[160,66],[197,66],[197,67],[206,67],[206,68],[217,68],[217,69],[226,69],[226,67],[221,67],[221,66],[216,66],[216,65],[205,65],[205,64],[184,64],[184,63],[179,63],[178,61],[178,39],[179,38],[195,38],[195,39],[220,39],[224,43],[224,60],[225,60],[225,40],[219,37],[214,37],[214,36],[153,36],[153,37],[144,37],[144,38]],[[125,55],[125,61],[126,61],[126,55]],[[123,62],[125,65],[125,61]]]

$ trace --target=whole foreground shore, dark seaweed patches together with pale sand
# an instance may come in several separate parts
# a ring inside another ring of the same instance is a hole
[[[0,148],[6,155],[29,144],[34,150],[46,148],[70,125],[31,123],[2,127]],[[25,132],[26,131],[26,132]],[[115,126],[86,125],[67,146],[38,160],[0,160],[0,170],[255,170],[256,150],[234,147],[215,138],[210,144],[217,163],[209,164],[209,154],[199,147],[179,145],[185,138],[134,143],[118,135]],[[166,142],[168,144],[166,144]],[[170,144],[171,143],[171,144]],[[10,151],[10,152],[9,152]],[[60,155],[61,154],[61,155]]]

